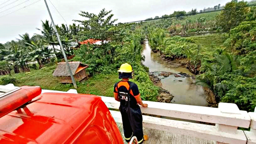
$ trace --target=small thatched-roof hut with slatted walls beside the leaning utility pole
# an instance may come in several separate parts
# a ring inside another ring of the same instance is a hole
[[[76,82],[81,81],[89,75],[89,73],[86,71],[88,65],[82,64],[79,61],[68,62],[68,64],[70,65],[72,75],[74,76]],[[53,76],[56,76],[61,83],[72,83],[66,62],[58,63],[57,68],[53,72]]]

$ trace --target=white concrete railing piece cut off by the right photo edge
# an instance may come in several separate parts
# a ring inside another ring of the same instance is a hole
[[[247,137],[247,144],[256,144],[256,108],[254,112],[248,112],[251,123],[250,123],[250,131],[243,131]]]

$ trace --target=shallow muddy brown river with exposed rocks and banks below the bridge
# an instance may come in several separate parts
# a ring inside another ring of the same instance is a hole
[[[210,92],[196,85],[195,75],[184,67],[186,60],[164,60],[159,53],[151,51],[147,42],[142,54],[145,55],[143,64],[149,68],[152,82],[161,87],[157,97],[160,102],[212,106],[209,105],[214,103]]]

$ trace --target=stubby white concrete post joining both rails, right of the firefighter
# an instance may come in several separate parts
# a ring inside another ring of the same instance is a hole
[[[236,104],[220,102],[218,104],[218,108],[220,109],[220,112],[223,114],[239,114],[239,108],[237,107]],[[233,134],[237,133],[237,126],[221,125],[217,123],[215,126],[217,130],[220,132],[233,133]],[[225,144],[225,143],[216,141],[216,144]]]

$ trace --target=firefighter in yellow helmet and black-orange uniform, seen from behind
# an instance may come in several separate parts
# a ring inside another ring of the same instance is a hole
[[[122,115],[125,141],[129,142],[133,136],[136,136],[138,143],[141,144],[148,137],[143,135],[139,105],[147,107],[147,104],[143,104],[138,86],[129,82],[129,78],[132,78],[132,66],[127,63],[122,64],[118,72],[119,79],[122,80],[115,83],[114,97],[115,100],[120,101],[119,110]]]

